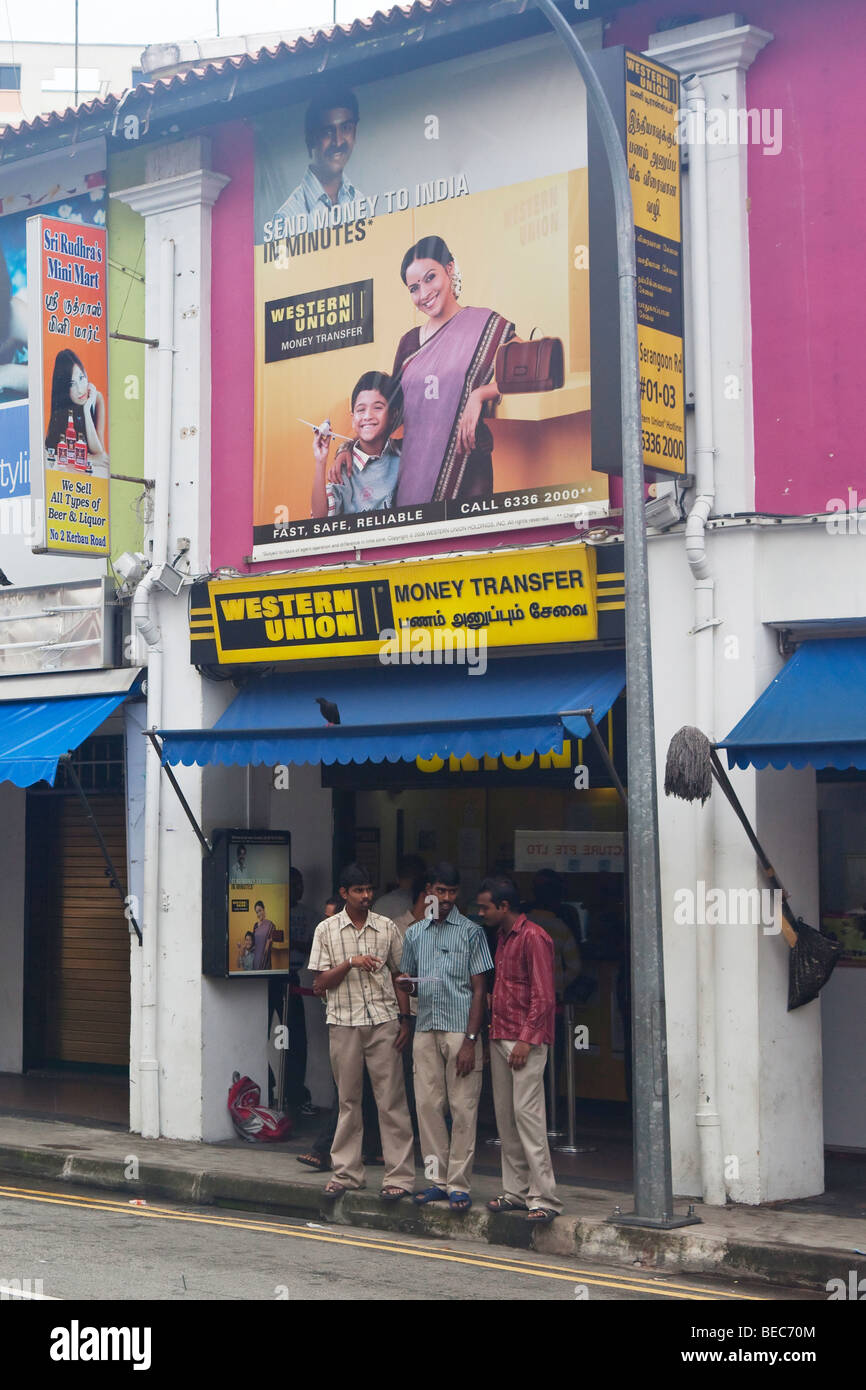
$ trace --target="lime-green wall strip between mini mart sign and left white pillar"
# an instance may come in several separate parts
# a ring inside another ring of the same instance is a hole
[[[145,153],[108,156],[108,193],[145,182]],[[108,327],[111,332],[145,334],[145,218],[108,197]],[[145,353],[140,343],[108,339],[108,439],[111,473],[143,477]],[[145,489],[111,482],[111,557],[140,550]]]

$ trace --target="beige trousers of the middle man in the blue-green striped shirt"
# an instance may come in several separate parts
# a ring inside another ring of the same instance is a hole
[[[484,1076],[484,1049],[475,1041],[475,1066],[457,1076],[457,1052],[464,1033],[416,1029],[414,1081],[424,1177],[449,1193],[468,1193],[475,1158],[475,1123]],[[450,1111],[450,1143],[446,1111]]]

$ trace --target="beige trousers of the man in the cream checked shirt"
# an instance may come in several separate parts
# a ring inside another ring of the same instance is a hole
[[[361,1145],[364,1118],[361,1094],[364,1063],[379,1112],[382,1156],[385,1159],[384,1186],[405,1187],[411,1191],[416,1177],[414,1140],[406,1105],[403,1061],[393,1041],[399,1023],[374,1023],[368,1027],[329,1024],[331,1069],[339,1095],[336,1133],[331,1145],[334,1177],[345,1187],[364,1186]]]

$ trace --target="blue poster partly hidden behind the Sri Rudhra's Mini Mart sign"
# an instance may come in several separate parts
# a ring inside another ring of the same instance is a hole
[[[104,171],[0,193],[0,503],[31,493],[26,222],[36,211],[104,227]]]

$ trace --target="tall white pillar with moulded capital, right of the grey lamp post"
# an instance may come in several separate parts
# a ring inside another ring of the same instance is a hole
[[[746,72],[771,35],[740,25],[734,15],[684,25],[651,38],[648,53],[685,76],[695,72],[706,92],[706,174],[710,265],[710,336],[716,446],[716,512],[748,513],[755,506],[752,421],[752,346],[748,240],[749,147],[731,132],[748,129],[737,113],[748,110]],[[727,133],[724,133],[727,132]],[[688,175],[685,178],[688,199]],[[685,247],[688,268],[688,245]],[[657,756],[670,735],[695,723],[691,614],[671,603],[671,585],[687,584],[681,538],[651,545]],[[780,666],[774,635],[762,626],[766,563],[771,534],[710,531],[708,553],[716,578],[714,699],[716,737],[737,723]],[[681,575],[681,581],[678,581]],[[678,674],[677,674],[678,673]],[[662,694],[666,698],[660,698]],[[778,785],[770,785],[774,778]],[[758,784],[760,778],[760,794]],[[812,910],[817,835],[813,778],[809,774],[735,771],[733,781],[770,855],[799,874]],[[784,783],[784,785],[783,785]],[[716,881],[723,890],[766,885],[755,855],[727,802],[713,791]],[[671,894],[695,888],[691,862],[692,817],[681,803],[660,808],[666,965],[669,976],[669,1058],[674,1188],[699,1191],[694,1127],[694,941],[673,923]],[[694,931],[694,929],[691,929]],[[716,935],[716,1016],[719,1112],[726,1180],[734,1201],[760,1202],[820,1191],[823,1187],[820,1102],[820,1015],[817,1008],[785,1012],[787,947],[762,926],[719,926]],[[802,1084],[805,1083],[805,1084]],[[784,1098],[784,1099],[783,1099]],[[783,1099],[783,1104],[780,1104]],[[798,1134],[796,1159],[784,1158]]]

